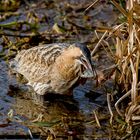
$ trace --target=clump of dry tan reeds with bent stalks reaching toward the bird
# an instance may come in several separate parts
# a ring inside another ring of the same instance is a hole
[[[102,42],[106,42],[109,38],[115,40],[115,52],[111,51],[110,46],[107,45],[108,50],[110,50],[108,53],[110,56],[114,55],[113,59],[117,67],[114,77],[117,83],[123,87],[122,92],[124,93],[116,102],[115,108],[118,114],[125,118],[129,131],[135,125],[135,121],[140,121],[140,2],[139,0],[128,0],[126,1],[126,9],[123,9],[115,0],[111,0],[111,3],[122,13],[126,20],[109,30],[108,28],[104,30],[104,34],[92,51],[92,55]],[[107,38],[105,39],[105,37]],[[122,111],[119,105],[126,98],[130,99],[130,102],[127,108]],[[110,102],[108,102],[108,106],[110,107]],[[112,117],[112,111],[110,108],[109,110]]]

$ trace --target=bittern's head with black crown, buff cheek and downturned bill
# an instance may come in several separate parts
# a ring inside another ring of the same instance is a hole
[[[75,61],[81,65],[81,77],[93,77],[93,67],[91,61],[91,53],[85,44],[75,43],[69,47],[69,54]]]

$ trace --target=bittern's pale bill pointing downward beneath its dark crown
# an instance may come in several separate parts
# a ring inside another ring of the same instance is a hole
[[[91,78],[91,77],[93,77],[94,76],[94,71],[93,71],[91,60],[88,59],[88,58],[85,58],[85,57],[81,57],[80,62],[85,68],[85,70],[82,73],[81,77],[83,77],[83,78]]]

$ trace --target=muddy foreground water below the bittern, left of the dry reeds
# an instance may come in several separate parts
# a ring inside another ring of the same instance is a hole
[[[96,87],[95,80],[88,80],[84,85],[76,87],[73,97],[51,95],[41,104],[32,99],[32,91],[9,74],[5,63],[0,68],[2,136],[11,137],[14,134],[16,137],[28,135],[29,138],[47,138],[50,135],[57,139],[108,138],[109,127],[104,129],[109,125],[106,92],[103,87]],[[9,89],[9,85],[16,88],[10,86]],[[106,85],[108,88],[113,87],[110,81]],[[99,124],[96,117],[99,117]]]

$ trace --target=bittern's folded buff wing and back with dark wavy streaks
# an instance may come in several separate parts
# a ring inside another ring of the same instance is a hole
[[[29,81],[38,81],[69,44],[58,43],[33,47],[18,53],[10,66]]]

